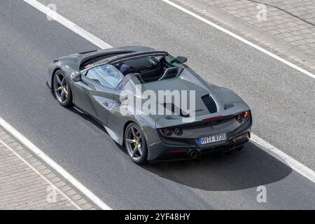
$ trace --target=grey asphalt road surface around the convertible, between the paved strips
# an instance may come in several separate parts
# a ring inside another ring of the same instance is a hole
[[[314,169],[314,79],[161,1],[42,2],[111,45],[188,56],[248,102],[255,134]],[[134,165],[45,85],[52,59],[96,46],[23,1],[0,2],[0,39],[0,116],[113,209],[315,209],[314,183],[252,144],[222,159]],[[267,188],[266,203],[257,186]]]

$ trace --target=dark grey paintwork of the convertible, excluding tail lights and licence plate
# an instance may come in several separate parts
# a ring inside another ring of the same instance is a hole
[[[174,127],[183,125],[182,119],[179,116],[163,116],[163,115],[149,115],[143,116],[141,113],[131,113],[124,116],[121,113],[120,94],[124,91],[134,91],[135,85],[141,85],[142,90],[195,90],[196,91],[196,118],[192,121],[193,125],[201,123],[203,119],[213,116],[237,116],[237,114],[249,111],[248,105],[235,92],[224,87],[218,87],[207,83],[204,79],[195,73],[186,64],[182,64],[184,69],[181,76],[170,78],[167,80],[160,80],[157,82],[141,84],[137,77],[130,78],[121,89],[111,89],[102,85],[97,85],[85,77],[85,72],[90,69],[80,71],[79,64],[88,57],[95,57],[104,53],[122,52],[132,50],[135,52],[153,51],[153,48],[143,46],[129,46],[122,48],[111,48],[106,50],[98,50],[87,54],[74,54],[67,57],[61,57],[48,68],[47,83],[52,87],[52,77],[56,69],[62,69],[66,74],[66,81],[71,86],[73,95],[73,104],[80,111],[89,114],[101,123],[111,135],[114,141],[118,144],[124,144],[125,127],[129,123],[137,123],[144,133],[146,144],[148,147],[148,160],[155,160],[160,157],[169,148],[186,147],[201,151],[205,147],[216,147],[220,144],[229,144],[233,138],[242,133],[250,133],[252,118],[249,118],[246,123],[237,123],[237,120],[229,120],[220,125],[213,125],[211,128],[197,128],[184,129],[181,137],[172,136],[171,139],[161,137],[158,131],[163,127]],[[71,75],[80,74],[82,80],[73,82]],[[136,94],[134,92],[134,94]],[[201,97],[205,94],[210,94],[213,97],[218,107],[217,113],[209,114],[207,107],[202,102]],[[141,97],[141,96],[136,96]],[[230,109],[225,109],[225,105],[232,105]],[[125,108],[125,110],[130,110]],[[137,109],[136,109],[137,110]],[[199,137],[206,137],[212,134],[220,134],[222,132],[228,133],[228,139],[225,142],[212,144],[211,146],[197,146],[195,140]],[[184,144],[186,141],[190,144]]]

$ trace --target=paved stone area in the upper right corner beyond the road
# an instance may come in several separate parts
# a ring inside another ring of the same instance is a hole
[[[315,66],[315,0],[174,1],[207,11]]]

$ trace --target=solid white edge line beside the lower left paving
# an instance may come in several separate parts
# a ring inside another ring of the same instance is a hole
[[[102,200],[99,199],[94,193],[92,193],[90,190],[88,190],[85,186],[83,186],[82,183],[80,183],[77,179],[75,179],[71,174],[66,172],[64,168],[62,168],[60,165],[57,164],[54,160],[52,160],[48,155],[43,153],[37,146],[31,143],[29,139],[24,137],[18,130],[15,130],[14,127],[12,127],[9,123],[7,123],[3,118],[0,117],[0,125],[7,130],[10,134],[15,137],[15,139],[18,139],[21,144],[29,148],[30,151],[32,151],[35,155],[38,156],[38,158],[41,158],[43,162],[48,164],[52,169],[55,169],[57,173],[62,175],[66,181],[69,181],[75,188],[77,188],[83,195],[85,195],[87,198],[89,198],[94,204],[97,204],[97,206],[104,210],[111,210],[111,207],[109,207],[107,204],[105,204]]]

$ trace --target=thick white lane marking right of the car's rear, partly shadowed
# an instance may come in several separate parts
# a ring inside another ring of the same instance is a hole
[[[267,141],[260,139],[260,137],[253,133],[251,134],[251,143],[253,143],[255,146],[258,146],[258,148],[262,149],[262,151],[265,151],[269,155],[272,155],[277,160],[280,160],[284,164],[288,165],[288,167],[294,169],[295,172],[301,174],[302,176],[309,179],[311,182],[315,183],[315,172],[313,170],[302,165],[302,163],[291,158],[286,153],[283,153],[279,150],[279,148],[272,146],[271,144],[267,143]]]

